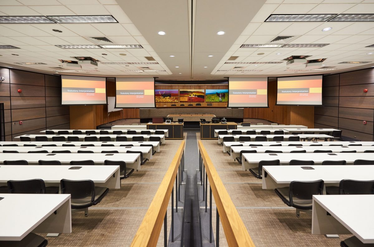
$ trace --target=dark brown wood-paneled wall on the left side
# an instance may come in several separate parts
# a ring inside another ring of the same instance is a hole
[[[61,106],[59,76],[0,68],[0,102],[4,103],[5,140],[39,134],[45,129],[69,129],[69,107]],[[22,92],[18,93],[18,89]],[[19,124],[22,121],[22,124]]]

